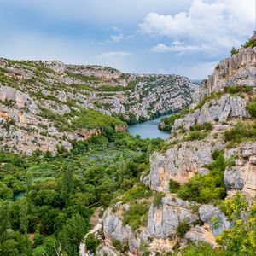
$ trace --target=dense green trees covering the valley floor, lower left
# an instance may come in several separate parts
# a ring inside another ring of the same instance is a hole
[[[0,153],[1,255],[78,255],[95,207],[108,207],[119,195],[134,201],[125,221],[133,229],[145,224],[149,203],[142,199],[153,192],[134,184],[162,143],[106,131],[73,142],[70,153],[59,147],[56,156],[40,150],[32,156]],[[89,237],[94,250],[96,241]]]

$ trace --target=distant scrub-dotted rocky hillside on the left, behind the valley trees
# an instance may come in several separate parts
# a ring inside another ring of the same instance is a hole
[[[195,84],[176,75],[121,73],[61,61],[0,59],[1,148],[31,154],[72,148],[102,128],[180,110]],[[106,116],[107,115],[107,116]],[[112,116],[112,117],[110,117]]]

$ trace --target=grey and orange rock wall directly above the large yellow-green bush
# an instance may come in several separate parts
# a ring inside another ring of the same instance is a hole
[[[223,147],[224,143],[218,141],[197,141],[179,143],[166,153],[154,152],[144,183],[152,190],[168,192],[171,178],[186,183],[195,173],[204,173],[206,170],[202,167],[212,162],[214,149]]]

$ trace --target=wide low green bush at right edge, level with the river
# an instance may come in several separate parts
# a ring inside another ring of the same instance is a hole
[[[241,143],[242,141],[256,139],[256,124],[237,122],[236,125],[224,132],[224,141]]]

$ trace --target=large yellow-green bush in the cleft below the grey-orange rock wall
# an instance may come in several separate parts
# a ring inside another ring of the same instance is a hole
[[[207,165],[210,172],[205,175],[195,175],[189,182],[180,187],[177,195],[183,200],[209,203],[213,200],[223,199],[225,194],[224,170],[227,162],[223,154]]]

